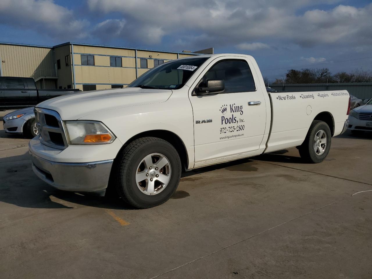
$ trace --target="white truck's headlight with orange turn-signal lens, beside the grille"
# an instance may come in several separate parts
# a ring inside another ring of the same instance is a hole
[[[108,144],[115,135],[98,121],[65,121],[69,144]]]

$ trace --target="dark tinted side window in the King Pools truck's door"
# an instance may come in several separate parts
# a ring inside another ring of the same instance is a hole
[[[202,86],[206,86],[207,80],[224,80],[225,90],[222,93],[256,91],[251,69],[243,60],[217,62],[203,77]]]

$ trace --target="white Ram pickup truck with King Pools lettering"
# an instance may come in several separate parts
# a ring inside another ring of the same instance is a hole
[[[182,170],[297,147],[320,163],[348,126],[347,91],[267,93],[253,57],[170,61],[124,89],[73,93],[35,108],[33,171],[50,185],[112,189],[149,208],[166,202]]]

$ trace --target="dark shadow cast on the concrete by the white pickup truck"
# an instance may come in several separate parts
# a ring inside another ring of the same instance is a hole
[[[187,177],[195,174],[207,173],[219,169],[231,171],[259,171],[259,169],[255,167],[257,164],[255,160],[300,162],[301,158],[288,156],[286,153],[288,153],[288,150],[183,172],[181,181],[193,179],[192,177]],[[82,206],[91,206],[103,209],[135,209],[125,204],[119,198],[108,198],[103,196],[103,192],[74,193],[65,192],[49,186],[33,173],[28,152],[13,157],[0,158],[0,181],[0,202],[23,208],[73,209]],[[172,198],[177,198],[179,194],[180,193],[176,192]]]

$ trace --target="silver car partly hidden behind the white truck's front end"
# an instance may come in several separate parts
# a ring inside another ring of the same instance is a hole
[[[6,133],[23,134],[33,138],[38,134],[35,121],[34,107],[15,110],[3,117],[3,127]]]

